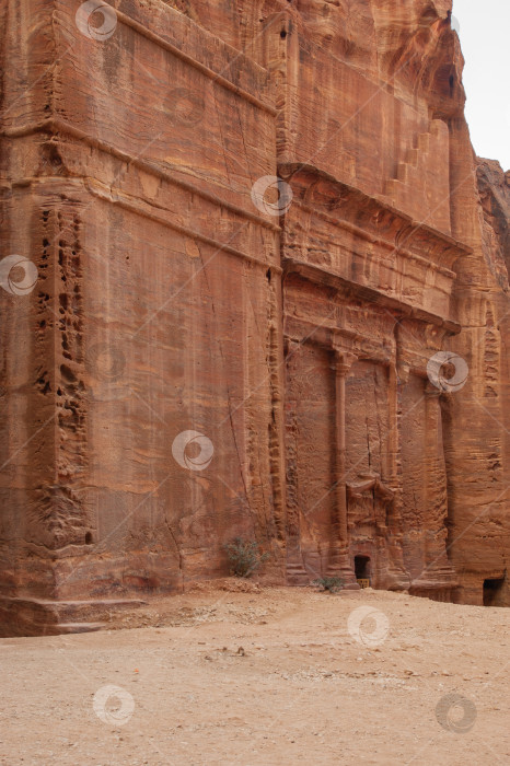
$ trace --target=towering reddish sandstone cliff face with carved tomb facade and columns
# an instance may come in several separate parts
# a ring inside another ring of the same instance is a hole
[[[451,2],[0,14],[4,632],[235,536],[275,582],[510,605],[510,188]]]

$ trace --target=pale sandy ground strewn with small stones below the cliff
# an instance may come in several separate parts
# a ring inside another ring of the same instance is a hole
[[[1,639],[0,763],[510,764],[509,610],[244,585]]]

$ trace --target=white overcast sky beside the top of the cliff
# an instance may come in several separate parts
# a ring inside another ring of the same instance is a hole
[[[510,170],[510,0],[453,0],[466,60],[466,119],[478,156]]]

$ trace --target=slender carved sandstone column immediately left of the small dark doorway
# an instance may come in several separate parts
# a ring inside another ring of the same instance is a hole
[[[353,353],[334,348],[335,371],[335,511],[333,538],[327,573],[340,576],[344,587],[359,588],[350,564],[347,532],[347,487],[346,487],[346,378],[357,357]]]

